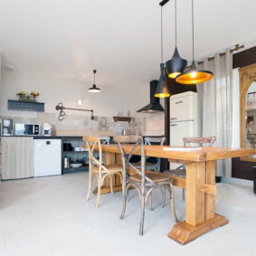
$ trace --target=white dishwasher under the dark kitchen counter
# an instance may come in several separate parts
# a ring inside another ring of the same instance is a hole
[[[33,174],[35,177],[62,175],[62,139],[33,139]]]

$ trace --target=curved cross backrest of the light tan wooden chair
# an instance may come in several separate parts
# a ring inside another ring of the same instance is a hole
[[[82,137],[82,140],[86,143],[86,147],[88,149],[89,167],[91,168],[92,165],[96,164],[97,166],[100,167],[100,172],[101,172],[101,168],[104,168],[104,166],[102,166],[100,137],[84,136]],[[99,151],[99,156],[100,156],[99,159],[93,156],[93,153],[96,147],[97,147],[97,151]]]

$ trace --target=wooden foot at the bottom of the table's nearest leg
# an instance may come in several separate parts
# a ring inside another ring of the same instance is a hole
[[[176,223],[172,231],[168,233],[168,237],[173,239],[175,242],[185,245],[188,242],[194,241],[198,236],[206,232],[210,232],[211,230],[221,227],[227,223],[229,223],[229,221],[219,214],[215,214],[213,219],[196,226],[185,222]]]

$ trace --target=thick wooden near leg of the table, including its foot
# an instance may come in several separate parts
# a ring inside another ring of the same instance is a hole
[[[215,213],[215,161],[186,165],[185,221],[174,225],[168,237],[186,244],[228,223]]]

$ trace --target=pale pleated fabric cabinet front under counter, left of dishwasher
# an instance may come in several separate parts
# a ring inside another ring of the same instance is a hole
[[[1,137],[2,180],[33,177],[33,137]]]

